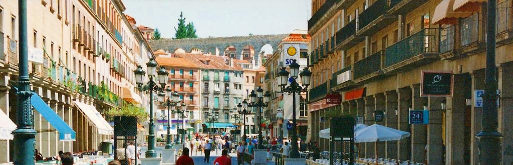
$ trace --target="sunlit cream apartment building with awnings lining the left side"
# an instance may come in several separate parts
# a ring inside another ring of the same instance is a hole
[[[17,3],[0,1],[0,109],[12,121],[17,104]],[[147,97],[141,97],[146,94],[135,90],[132,73],[136,64],[153,56],[148,43],[127,20],[119,0],[28,1],[27,8],[35,148],[44,157],[60,150],[100,149],[100,143],[112,137],[106,110],[148,104]],[[0,148],[6,149],[0,162],[12,161],[12,144],[0,141]]]

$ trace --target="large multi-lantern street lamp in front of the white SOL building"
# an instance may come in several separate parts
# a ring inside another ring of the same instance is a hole
[[[292,150],[290,151],[290,158],[299,158],[298,151],[298,128],[295,120],[295,95],[296,93],[306,92],[308,85],[310,85],[310,76],[312,73],[308,70],[308,67],[303,69],[303,72],[299,74],[300,65],[296,62],[296,60],[292,60],[292,64],[289,65],[290,74],[287,72],[285,67],[278,73],[280,75],[280,89],[283,92],[287,92],[289,95],[292,93],[292,141],[291,146]],[[298,84],[296,79],[298,78],[298,74],[301,76],[302,85]],[[289,76],[291,78],[289,78]],[[287,86],[287,82],[290,79],[290,85]]]

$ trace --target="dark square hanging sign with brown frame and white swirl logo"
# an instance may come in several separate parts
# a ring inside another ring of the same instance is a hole
[[[422,70],[420,95],[422,97],[452,96],[452,84],[452,72]]]

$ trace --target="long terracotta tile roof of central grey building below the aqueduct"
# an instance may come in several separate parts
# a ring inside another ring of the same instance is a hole
[[[174,54],[175,57],[184,58],[190,60],[198,67],[202,69],[218,69],[218,70],[236,70],[242,71],[242,67],[238,64],[233,64],[230,66],[225,62],[225,60],[229,60],[228,57],[225,56],[215,56],[215,55],[203,55],[203,54],[191,54],[191,53],[178,53]],[[208,65],[203,63],[202,61],[208,61]]]

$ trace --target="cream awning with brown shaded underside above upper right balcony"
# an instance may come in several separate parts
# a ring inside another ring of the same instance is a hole
[[[455,25],[458,23],[458,18],[468,17],[471,15],[470,12],[455,12],[453,11],[453,4],[459,0],[443,0],[435,8],[435,14],[433,14],[433,24],[446,24]]]

